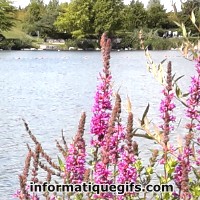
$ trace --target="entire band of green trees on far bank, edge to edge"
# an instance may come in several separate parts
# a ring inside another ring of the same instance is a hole
[[[24,32],[44,41],[47,38],[68,39],[69,44],[77,45],[83,38],[91,42],[107,31],[110,37],[121,38],[122,48],[137,49],[140,46],[139,30],[143,30],[142,37],[149,43],[153,37],[162,37],[168,30],[181,33],[174,21],[186,24],[191,36],[199,36],[190,20],[194,11],[196,21],[200,23],[198,0],[186,1],[177,13],[173,8],[167,12],[160,0],[149,0],[147,8],[140,0],[132,0],[129,5],[125,5],[123,0],[71,0],[61,4],[59,0],[50,0],[48,4],[43,0],[31,0],[23,9],[14,8],[7,0],[0,0],[0,4],[7,4],[7,8],[10,6],[6,11],[0,8],[0,31],[14,25],[15,13]],[[4,18],[1,18],[1,13],[4,13]]]

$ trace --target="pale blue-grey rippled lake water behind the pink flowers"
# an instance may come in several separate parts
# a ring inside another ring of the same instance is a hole
[[[180,86],[188,88],[194,74],[192,62],[176,51],[153,51],[151,55],[157,63],[165,58],[171,60],[173,72],[185,75]],[[61,129],[70,141],[82,111],[87,114],[85,137],[89,141],[91,108],[97,76],[102,70],[101,61],[100,52],[0,51],[1,200],[12,199],[11,195],[19,187],[18,175],[23,170],[26,143],[33,144],[25,132],[22,118],[53,158],[58,153],[54,141],[60,140]],[[148,116],[159,122],[162,87],[147,72],[144,52],[112,52],[111,71],[115,90],[120,87],[123,116],[127,114],[128,95],[136,119],[142,116],[149,102]],[[178,104],[179,119],[183,112]],[[137,141],[144,155],[154,146],[149,140]]]

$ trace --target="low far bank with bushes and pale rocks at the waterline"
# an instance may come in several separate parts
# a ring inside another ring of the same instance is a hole
[[[198,38],[190,38],[194,43]],[[148,46],[149,50],[171,50],[178,49],[183,43],[183,38],[162,38],[154,35],[144,34],[142,38],[138,33],[116,34],[112,37],[113,50],[142,50]],[[38,38],[18,38],[6,39],[0,35],[0,49],[2,50],[49,50],[49,51],[67,51],[67,50],[100,50],[99,39],[82,38],[82,39],[47,39]]]

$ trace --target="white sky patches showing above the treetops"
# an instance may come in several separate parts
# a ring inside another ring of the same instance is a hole
[[[70,0],[60,0],[59,2],[69,2]],[[131,0],[124,0],[125,4],[129,4]],[[149,0],[140,0],[144,3],[145,7],[147,6],[147,3]],[[25,7],[29,4],[29,0],[13,0],[15,6],[21,6]],[[44,0],[45,3],[48,3],[49,0]],[[180,8],[180,0],[173,0],[173,2],[176,3],[177,8]],[[165,6],[167,11],[171,11],[172,9],[172,0],[161,0],[161,3]]]

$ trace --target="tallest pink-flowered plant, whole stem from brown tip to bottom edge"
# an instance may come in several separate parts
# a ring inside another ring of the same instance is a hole
[[[111,40],[104,33],[100,41],[101,51],[103,55],[103,72],[99,74],[99,84],[95,94],[95,103],[92,109],[92,119],[90,125],[90,132],[92,134],[91,145],[93,146],[94,155],[94,174],[93,179],[98,184],[111,184],[112,171],[107,165],[109,163],[109,155],[105,155],[104,159],[98,158],[98,154],[102,151],[102,146],[106,145],[105,137],[107,134],[109,120],[111,117],[111,73],[110,73],[110,51]],[[109,154],[109,153],[108,153]],[[100,159],[100,160],[99,160]],[[108,161],[107,161],[108,160]],[[109,198],[112,197],[109,193],[104,193],[95,196],[95,198]]]

